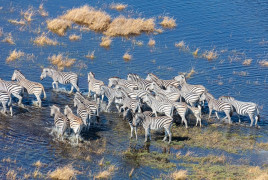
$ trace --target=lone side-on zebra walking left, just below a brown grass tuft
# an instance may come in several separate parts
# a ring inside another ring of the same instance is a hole
[[[58,83],[60,84],[71,84],[70,94],[73,92],[75,88],[77,91],[80,91],[78,87],[78,75],[73,72],[60,72],[55,69],[44,68],[40,79],[43,80],[47,76],[53,79],[52,88],[59,89]],[[55,87],[54,87],[55,85]]]

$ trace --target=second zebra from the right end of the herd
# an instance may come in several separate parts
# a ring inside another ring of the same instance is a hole
[[[207,91],[205,91],[204,94],[202,94],[202,96],[204,96],[204,98],[206,99],[208,103],[208,108],[209,108],[208,119],[211,116],[212,110],[215,110],[215,114],[218,119],[220,119],[218,116],[218,112],[221,111],[226,114],[225,118],[228,118],[229,124],[232,123],[230,115],[232,115],[233,108],[229,103],[215,99],[213,95],[208,93]]]

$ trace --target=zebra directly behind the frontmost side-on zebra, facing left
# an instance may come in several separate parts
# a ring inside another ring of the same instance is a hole
[[[166,116],[172,118],[175,107],[169,102],[161,102],[156,100],[152,95],[146,95],[143,97],[143,102],[145,102],[149,107],[151,107],[153,113],[157,117],[157,112],[164,113]]]

